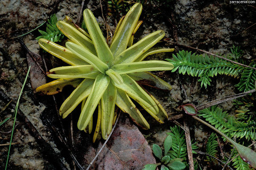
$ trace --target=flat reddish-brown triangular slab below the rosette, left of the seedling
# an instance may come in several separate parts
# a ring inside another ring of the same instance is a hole
[[[100,150],[101,146],[102,144],[99,144],[97,150]],[[95,150],[90,148],[84,158],[90,163],[95,154]],[[91,170],[141,170],[148,163],[156,162],[146,139],[128,117],[121,116]]]

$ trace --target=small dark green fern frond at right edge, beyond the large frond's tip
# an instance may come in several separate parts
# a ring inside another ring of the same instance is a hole
[[[251,62],[249,66],[255,68],[256,61]],[[240,92],[246,92],[255,88],[255,81],[256,70],[252,68],[244,68],[243,72],[241,73],[240,82],[235,86],[238,87]]]

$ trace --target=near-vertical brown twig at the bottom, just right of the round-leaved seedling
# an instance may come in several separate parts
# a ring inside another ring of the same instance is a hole
[[[187,152],[188,152],[188,159],[189,159],[189,170],[194,170],[194,161],[193,161],[193,153],[192,153],[192,145],[190,139],[190,131],[186,121],[183,121],[186,137],[186,144],[187,144]]]

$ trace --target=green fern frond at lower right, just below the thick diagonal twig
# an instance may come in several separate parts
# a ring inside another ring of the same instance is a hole
[[[233,115],[227,114],[226,111],[213,106],[199,111],[199,116],[206,119],[211,125],[215,126],[221,132],[229,137],[245,137],[247,140],[256,139],[256,122],[240,122]]]

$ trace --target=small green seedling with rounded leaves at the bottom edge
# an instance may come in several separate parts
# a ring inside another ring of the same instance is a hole
[[[170,157],[170,149],[172,147],[172,136],[168,135],[165,138],[164,142],[164,155],[163,151],[159,145],[153,144],[153,153],[155,157],[157,157],[161,163],[156,164],[147,164],[144,166],[143,170],[155,170],[157,166],[161,165],[161,170],[183,170],[186,168],[186,165],[182,162],[183,159],[181,158],[174,158]]]

